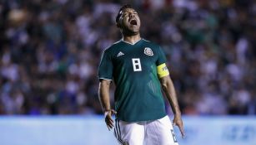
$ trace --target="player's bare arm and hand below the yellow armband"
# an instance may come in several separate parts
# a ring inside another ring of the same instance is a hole
[[[173,86],[173,81],[171,80],[169,75],[164,76],[163,78],[160,79],[160,81],[163,88],[163,92],[168,99],[168,103],[171,105],[173,109],[173,114],[174,114],[173,125],[178,126],[180,133],[184,138],[185,133],[183,129],[183,120],[181,118],[181,112],[178,106],[178,99]]]

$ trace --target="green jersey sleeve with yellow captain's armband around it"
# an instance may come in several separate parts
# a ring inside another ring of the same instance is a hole
[[[169,75],[168,67],[165,64],[166,56],[162,51],[162,48],[159,47],[158,49],[158,60],[157,60],[157,71],[158,71],[158,78],[162,78],[164,76]]]

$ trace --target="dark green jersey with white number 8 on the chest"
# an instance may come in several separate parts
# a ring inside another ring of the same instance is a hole
[[[161,47],[143,39],[135,44],[118,41],[103,52],[98,78],[113,80],[116,85],[118,119],[138,122],[166,115],[157,72],[157,66],[165,61]]]

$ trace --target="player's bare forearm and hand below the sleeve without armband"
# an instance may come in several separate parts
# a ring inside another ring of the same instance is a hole
[[[116,112],[113,109],[111,109],[111,105],[110,105],[110,95],[109,95],[110,84],[111,84],[110,80],[102,80],[98,86],[98,99],[103,108],[105,123],[108,127],[108,130],[113,128],[113,119],[111,118],[111,116],[113,114],[116,114]]]

